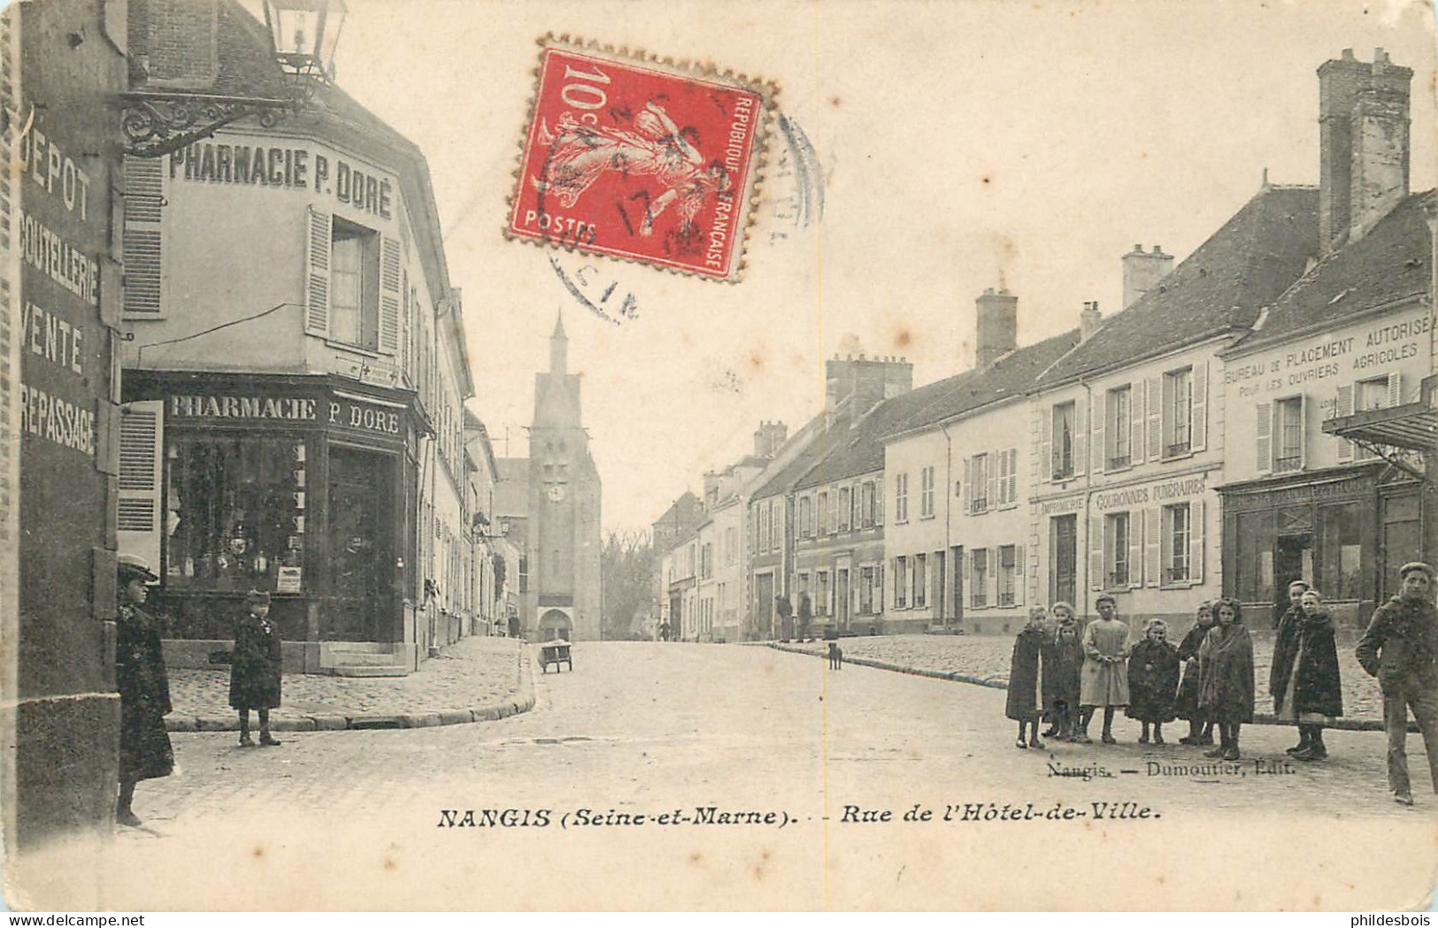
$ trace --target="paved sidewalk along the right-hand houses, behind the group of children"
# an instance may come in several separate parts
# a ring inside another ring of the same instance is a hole
[[[1378,681],[1363,672],[1353,656],[1350,635],[1339,639],[1339,665],[1343,675],[1343,717],[1337,728],[1382,730],[1383,697]],[[844,661],[863,667],[953,679],[959,682],[1008,688],[1008,662],[1014,649],[1012,635],[880,635],[841,638]],[[771,644],[779,651],[823,655],[823,641]],[[1254,639],[1254,669],[1258,684],[1260,724],[1273,721],[1268,698],[1268,667],[1273,662],[1273,636]]]

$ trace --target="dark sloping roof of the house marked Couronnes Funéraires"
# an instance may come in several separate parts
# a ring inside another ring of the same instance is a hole
[[[1038,386],[1238,332],[1319,254],[1319,190],[1265,185],[1133,306],[1104,319]]]

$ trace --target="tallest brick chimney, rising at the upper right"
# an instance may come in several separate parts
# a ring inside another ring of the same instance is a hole
[[[1319,68],[1319,247],[1357,238],[1408,195],[1414,72],[1353,49]]]

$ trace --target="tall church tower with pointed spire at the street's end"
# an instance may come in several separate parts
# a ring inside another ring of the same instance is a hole
[[[531,641],[598,641],[600,474],[580,408],[580,375],[569,373],[569,338],[557,317],[549,371],[535,375],[529,427],[529,590],[525,635]]]

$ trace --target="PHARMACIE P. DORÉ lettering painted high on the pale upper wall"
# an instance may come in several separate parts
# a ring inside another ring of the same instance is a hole
[[[170,155],[170,180],[311,190],[380,218],[394,218],[394,181],[328,148],[196,142]]]

